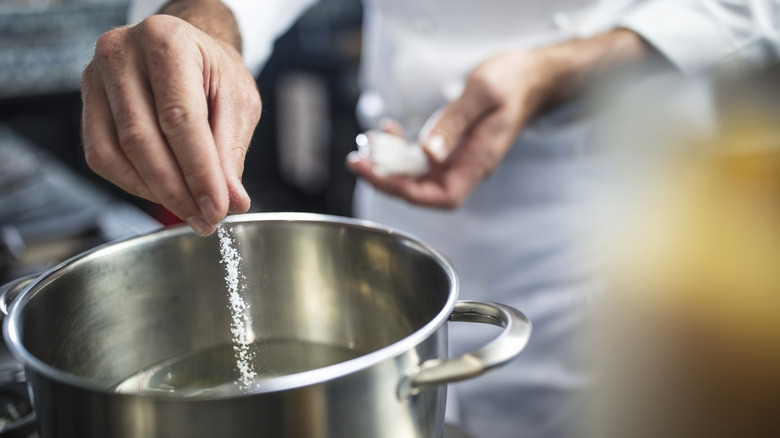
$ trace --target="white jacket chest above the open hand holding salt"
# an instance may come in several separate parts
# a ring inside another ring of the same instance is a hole
[[[631,0],[365,0],[365,128],[399,120],[415,137],[491,55],[562,42],[608,22]]]

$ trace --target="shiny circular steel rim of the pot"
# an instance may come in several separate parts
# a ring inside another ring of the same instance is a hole
[[[412,234],[378,224],[376,222],[347,218],[333,215],[323,215],[314,213],[250,213],[228,216],[223,222],[226,223],[244,223],[244,222],[307,222],[307,223],[323,223],[331,225],[343,225],[352,228],[361,228],[370,230],[373,232],[379,232],[386,235],[398,237],[410,244],[420,247],[423,251],[430,253],[435,262],[442,268],[444,273],[450,280],[450,288],[448,292],[447,301],[442,306],[441,310],[424,326],[418,330],[412,332],[408,336],[371,353],[350,359],[337,364],[329,365],[322,368],[316,368],[300,373],[287,374],[283,376],[271,377],[263,379],[259,385],[248,391],[236,392],[235,394],[217,394],[217,395],[205,395],[205,396],[190,396],[181,397],[167,393],[153,393],[153,394],[132,394],[132,393],[118,393],[105,385],[98,384],[92,379],[87,377],[77,376],[69,372],[55,368],[42,360],[35,357],[30,353],[21,343],[20,340],[20,314],[22,309],[28,301],[32,299],[37,293],[41,291],[43,287],[56,281],[60,277],[66,268],[74,263],[83,260],[87,257],[95,256],[99,252],[105,251],[120,251],[123,246],[130,245],[138,242],[139,240],[156,239],[160,237],[167,237],[176,234],[194,234],[192,229],[187,225],[177,225],[173,227],[161,228],[156,231],[152,231],[138,236],[132,236],[126,239],[109,242],[90,250],[87,250],[81,254],[71,257],[68,260],[58,264],[57,266],[49,269],[41,274],[37,279],[27,285],[19,295],[14,299],[11,306],[8,308],[8,315],[5,316],[3,321],[3,335],[8,348],[11,353],[22,362],[22,364],[36,373],[42,374],[52,380],[61,382],[66,385],[74,386],[80,389],[97,391],[106,394],[112,394],[116,396],[127,397],[143,397],[168,401],[186,401],[186,400],[219,400],[227,398],[237,397],[250,397],[257,394],[264,394],[277,391],[285,391],[296,388],[302,388],[315,384],[324,383],[327,381],[335,380],[368,368],[371,368],[381,362],[391,360],[406,351],[411,350],[416,345],[422,343],[431,334],[436,332],[440,326],[445,324],[455,307],[455,302],[458,299],[459,293],[459,280],[458,275],[453,267],[452,263],[437,249],[433,248],[428,243],[415,237]]]

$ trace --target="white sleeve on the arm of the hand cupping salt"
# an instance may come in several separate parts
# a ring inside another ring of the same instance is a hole
[[[780,0],[651,0],[620,22],[686,74],[780,59]]]

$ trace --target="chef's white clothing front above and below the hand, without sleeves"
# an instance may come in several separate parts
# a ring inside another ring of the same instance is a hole
[[[479,62],[571,38],[566,24],[590,3],[366,1],[359,116],[367,128],[379,117],[396,118],[414,138]],[[457,211],[414,207],[364,182],[356,189],[357,216],[414,234],[452,260],[461,299],[515,306],[534,325],[519,359],[450,385],[448,419],[479,438],[563,437],[575,424],[586,380],[577,335],[593,279],[577,221],[588,123],[574,113],[562,108],[526,129]],[[485,341],[469,324],[451,324],[450,338],[455,352]]]

